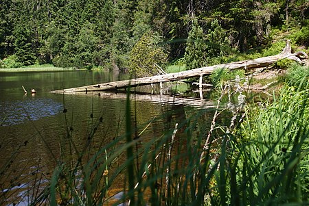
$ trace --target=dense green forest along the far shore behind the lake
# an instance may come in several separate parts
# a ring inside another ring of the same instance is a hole
[[[293,44],[308,47],[309,38],[307,0],[2,0],[0,16],[3,68],[53,64],[142,76],[153,63],[190,69],[258,52],[276,29],[293,34]]]

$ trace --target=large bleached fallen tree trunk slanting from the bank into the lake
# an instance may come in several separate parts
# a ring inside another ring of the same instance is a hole
[[[181,79],[187,79],[190,77],[203,77],[203,75],[209,75],[217,68],[227,68],[228,70],[235,70],[244,68],[245,70],[251,68],[260,68],[270,66],[279,60],[285,58],[295,60],[297,62],[303,62],[304,59],[308,59],[308,55],[304,52],[291,53],[290,40],[286,42],[286,47],[278,55],[261,57],[255,60],[244,60],[240,62],[231,62],[227,64],[217,64],[214,66],[206,66],[202,68],[196,68],[193,70],[186,70],[179,73],[170,73],[165,75],[157,75],[152,77],[142,77],[138,79],[129,79],[123,81],[113,81],[108,83],[98,83],[90,86],[82,86],[78,88],[69,88],[64,90],[55,90],[53,93],[72,93],[72,92],[90,92],[90,91],[103,91],[103,90],[119,90],[127,88],[128,86],[143,86],[151,83],[161,83],[167,81],[177,81]]]

